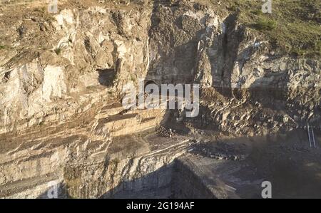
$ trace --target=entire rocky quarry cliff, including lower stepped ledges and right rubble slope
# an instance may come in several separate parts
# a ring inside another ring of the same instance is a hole
[[[58,9],[49,14],[34,1],[0,11],[1,197],[38,197],[53,180],[71,197],[111,196],[185,153],[184,143],[165,152],[153,145],[159,138],[141,137],[110,150],[115,137],[167,118],[189,133],[234,136],[284,133],[308,121],[320,128],[320,58],[275,53],[237,12],[156,0],[61,1]],[[177,121],[174,111],[124,113],[123,85],[139,78],[200,83],[200,115]],[[139,192],[150,185],[135,184]]]

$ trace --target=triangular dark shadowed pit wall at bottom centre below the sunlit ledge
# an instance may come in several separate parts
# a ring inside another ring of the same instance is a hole
[[[198,199],[214,198],[202,177],[196,176],[187,167],[175,160],[158,170],[135,180],[125,180],[103,194],[104,198],[120,199]]]

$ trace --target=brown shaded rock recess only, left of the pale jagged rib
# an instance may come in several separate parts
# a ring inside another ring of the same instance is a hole
[[[197,38],[204,33],[205,28],[183,28],[182,21],[185,21],[187,26],[197,24],[183,15],[182,8],[187,6],[179,4],[182,5],[176,6],[170,4],[170,1],[154,1],[149,30],[150,47],[157,51],[160,57],[151,57],[146,79],[155,80],[159,84],[185,84],[193,83],[194,80]],[[168,13],[171,15],[168,16]],[[183,35],[188,36],[188,40],[182,39]]]

